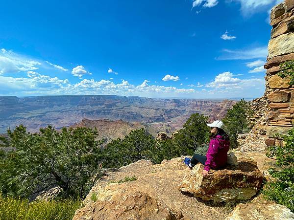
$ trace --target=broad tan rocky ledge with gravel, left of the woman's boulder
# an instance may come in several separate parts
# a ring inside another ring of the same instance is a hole
[[[159,210],[158,216],[154,213],[154,216],[151,215],[152,218],[137,219],[168,219],[169,216],[165,217],[166,214],[173,216],[174,219],[182,214],[183,220],[225,219],[230,211],[224,207],[224,204],[211,205],[178,190],[178,184],[183,176],[191,173],[184,165],[183,159],[184,156],[164,160],[161,164],[155,165],[148,160],[140,160],[118,169],[117,172],[107,172],[107,175],[98,180],[91,189],[83,202],[85,207],[76,211],[74,219],[91,219],[94,216],[98,218],[99,212],[117,217],[113,215],[119,210],[122,214],[121,219],[127,219],[135,210],[142,208],[144,213],[148,213],[147,209],[154,210],[155,207]],[[118,183],[126,176],[135,176],[136,180]],[[146,204],[141,203],[141,198],[145,199]],[[138,201],[139,204],[130,205],[130,201]],[[140,212],[137,215],[141,215]],[[116,218],[105,216],[105,219]]]

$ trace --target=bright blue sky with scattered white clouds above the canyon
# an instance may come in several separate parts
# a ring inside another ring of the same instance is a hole
[[[3,1],[0,95],[257,98],[279,2]]]

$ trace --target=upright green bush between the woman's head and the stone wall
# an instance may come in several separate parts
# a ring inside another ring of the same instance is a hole
[[[252,115],[250,104],[244,99],[237,102],[232,109],[228,110],[222,120],[225,131],[230,137],[231,148],[237,147],[238,134],[248,132],[250,129],[249,117]]]

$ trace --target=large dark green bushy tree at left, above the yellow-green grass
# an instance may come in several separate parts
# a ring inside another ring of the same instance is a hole
[[[66,196],[85,196],[99,177],[101,161],[97,131],[88,128],[58,132],[48,126],[40,133],[20,125],[8,130],[12,150],[1,154],[0,191],[29,197],[53,186]]]

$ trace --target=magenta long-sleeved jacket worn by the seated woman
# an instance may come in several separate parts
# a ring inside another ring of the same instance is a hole
[[[224,138],[221,135],[213,137],[209,142],[204,170],[217,170],[224,167],[229,149],[230,141],[228,138]]]

